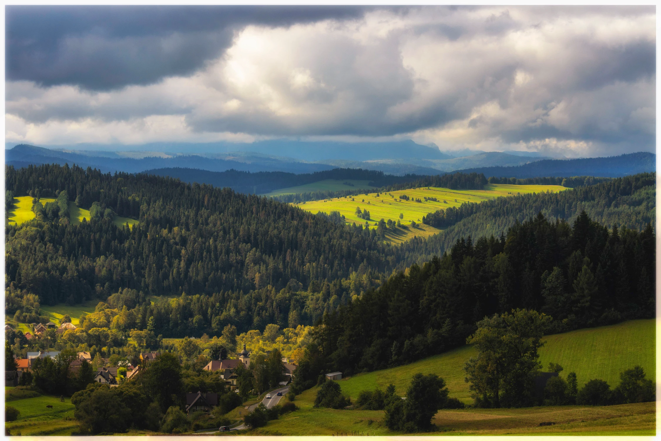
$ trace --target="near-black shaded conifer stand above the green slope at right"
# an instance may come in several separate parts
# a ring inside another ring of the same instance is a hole
[[[549,333],[654,317],[654,262],[651,225],[608,229],[584,212],[573,225],[538,214],[501,237],[462,237],[327,313],[297,387],[317,370],[351,375],[444,352],[513,308],[551,315]]]

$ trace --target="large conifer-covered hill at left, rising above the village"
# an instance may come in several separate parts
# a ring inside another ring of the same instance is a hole
[[[9,281],[48,304],[120,288],[151,296],[280,290],[292,280],[306,288],[339,286],[353,272],[387,274],[399,262],[374,230],[227,188],[59,165],[5,173],[17,196],[64,190],[85,208],[99,202],[102,210],[139,219],[131,230],[110,220],[7,227]]]

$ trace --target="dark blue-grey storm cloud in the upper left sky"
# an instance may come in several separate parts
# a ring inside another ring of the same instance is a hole
[[[108,90],[187,75],[246,24],[362,16],[363,7],[7,6],[7,79]]]

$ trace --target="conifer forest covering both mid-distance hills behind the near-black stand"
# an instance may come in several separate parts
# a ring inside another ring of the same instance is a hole
[[[58,201],[5,230],[5,313],[20,309],[40,320],[39,303],[98,299],[118,311],[126,306],[122,323],[130,325],[122,329],[145,329],[153,317],[153,332],[163,337],[219,335],[227,325],[239,333],[268,323],[312,325],[366,296],[393,271],[441,255],[460,235],[477,239],[491,228],[499,237],[514,219],[539,211],[553,219],[585,209],[600,223],[636,229],[654,220],[654,175],[486,202],[445,233],[401,246],[332,216],[175,179],[59,165],[7,167],[6,179],[16,196]],[[110,209],[139,223],[117,227],[98,216],[72,225],[56,214],[65,206],[63,194],[83,208],[95,204],[99,214]],[[160,295],[178,299],[151,305],[149,297]]]

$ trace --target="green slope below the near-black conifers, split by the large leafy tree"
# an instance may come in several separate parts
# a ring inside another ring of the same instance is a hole
[[[578,329],[549,335],[544,340],[547,343],[539,350],[539,361],[544,368],[549,362],[555,362],[563,366],[563,377],[568,372],[576,372],[578,387],[594,378],[615,387],[619,384],[619,373],[637,364],[644,368],[647,378],[656,379],[654,319]],[[463,380],[463,364],[474,354],[471,346],[463,346],[405,366],[358,374],[339,383],[342,391],[355,400],[360,391],[377,386],[385,389],[389,383],[397,387],[399,395],[405,395],[414,374],[437,374],[446,380],[451,397],[472,403],[468,383]]]

